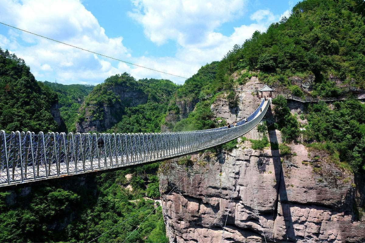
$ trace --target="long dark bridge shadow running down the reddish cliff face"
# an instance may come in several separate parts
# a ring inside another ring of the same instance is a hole
[[[272,118],[272,110],[269,107],[266,115],[268,118]],[[272,122],[270,122],[272,124]],[[273,129],[273,130],[270,130]],[[276,130],[274,125],[268,127],[269,132],[269,141],[270,144],[278,144]],[[276,190],[277,190],[277,197],[275,202],[275,209],[274,209],[274,222],[276,217],[278,216],[278,204],[280,202],[282,213],[285,222],[285,235],[283,236],[283,240],[287,240],[289,242],[296,242],[295,232],[293,228],[293,220],[292,215],[290,212],[290,204],[288,202],[288,194],[287,194],[287,187],[285,184],[285,178],[283,173],[283,164],[281,163],[281,154],[278,149],[271,148],[271,154],[273,157],[273,164],[274,164],[274,171],[275,171],[275,179],[276,179]]]

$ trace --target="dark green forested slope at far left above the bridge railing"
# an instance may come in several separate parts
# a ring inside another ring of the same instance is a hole
[[[57,132],[51,114],[57,94],[37,82],[23,59],[0,48],[0,129]]]

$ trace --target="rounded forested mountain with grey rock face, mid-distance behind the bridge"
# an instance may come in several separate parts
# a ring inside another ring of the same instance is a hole
[[[177,87],[165,79],[136,80],[127,73],[111,76],[85,98],[79,109],[77,132],[158,131]]]

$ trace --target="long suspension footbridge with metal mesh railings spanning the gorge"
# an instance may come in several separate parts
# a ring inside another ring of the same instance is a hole
[[[173,133],[0,132],[0,187],[160,161],[242,136],[264,117],[271,100],[237,126]],[[261,111],[260,111],[261,110]]]

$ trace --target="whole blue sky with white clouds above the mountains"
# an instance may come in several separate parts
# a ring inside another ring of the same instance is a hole
[[[289,16],[297,1],[3,0],[0,21],[131,63],[191,77],[255,30]],[[97,56],[0,26],[0,47],[23,58],[39,81],[101,83],[135,78],[185,79]]]

